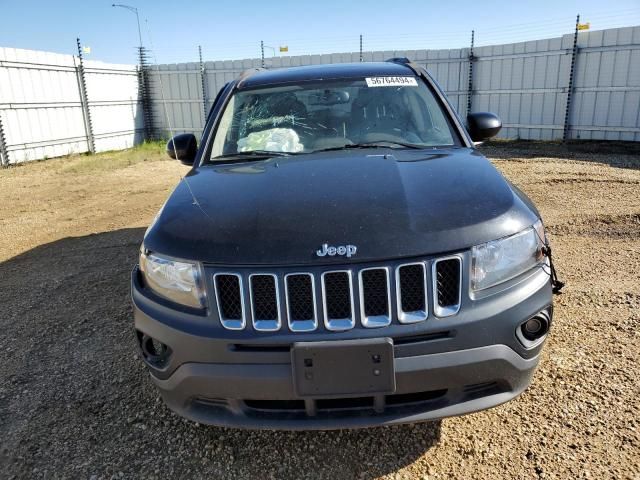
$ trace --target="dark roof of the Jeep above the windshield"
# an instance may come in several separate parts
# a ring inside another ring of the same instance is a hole
[[[360,62],[307,65],[304,67],[258,70],[244,75],[238,82],[239,89],[256,88],[278,83],[295,83],[310,80],[338,78],[362,78],[393,75],[415,75],[413,70],[402,63]]]

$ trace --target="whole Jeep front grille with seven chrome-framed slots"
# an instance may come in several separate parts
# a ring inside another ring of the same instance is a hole
[[[321,323],[330,331],[350,330],[358,323],[379,328],[426,321],[431,308],[436,317],[455,315],[460,309],[461,256],[328,271],[241,270],[213,275],[218,315],[229,330],[242,330],[247,322],[264,332],[281,330],[283,323],[292,332],[315,331]]]

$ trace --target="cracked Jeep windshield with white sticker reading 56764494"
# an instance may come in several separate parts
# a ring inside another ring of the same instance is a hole
[[[236,92],[215,132],[211,160],[369,144],[428,148],[458,140],[417,77],[325,80]]]

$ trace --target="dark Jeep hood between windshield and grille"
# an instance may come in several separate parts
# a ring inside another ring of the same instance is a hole
[[[303,265],[441,254],[536,221],[476,150],[348,150],[192,170],[145,248],[220,265]],[[350,259],[323,244],[355,245]]]

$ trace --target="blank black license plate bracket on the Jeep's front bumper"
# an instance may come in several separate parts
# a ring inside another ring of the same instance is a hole
[[[390,338],[297,342],[291,364],[299,397],[353,397],[396,389]]]

